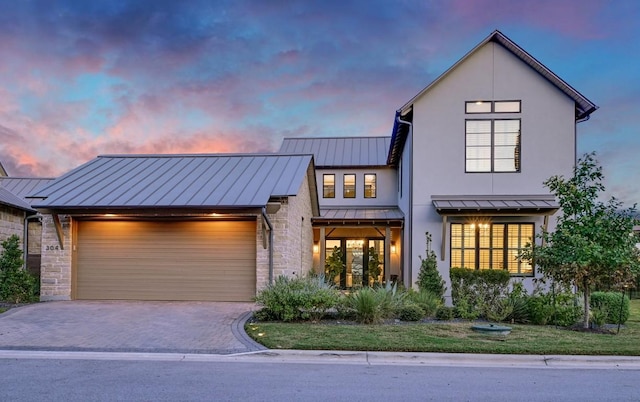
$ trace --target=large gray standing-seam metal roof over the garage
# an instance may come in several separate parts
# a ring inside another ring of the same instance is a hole
[[[305,176],[316,197],[311,155],[106,155],[32,196],[45,210],[254,208],[296,195]]]

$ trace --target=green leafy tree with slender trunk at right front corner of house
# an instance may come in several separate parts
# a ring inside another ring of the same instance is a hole
[[[520,256],[533,259],[546,277],[577,286],[583,295],[585,328],[591,291],[634,286],[639,269],[635,204],[623,209],[615,197],[599,201],[603,178],[595,153],[589,153],[578,160],[570,179],[553,176],[545,181],[560,203],[561,215],[554,232],[541,233],[542,245],[530,244]]]

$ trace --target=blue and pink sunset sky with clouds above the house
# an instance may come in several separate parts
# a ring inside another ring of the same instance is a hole
[[[0,162],[56,177],[104,154],[391,135],[495,29],[599,106],[578,153],[640,202],[636,0],[0,0]]]

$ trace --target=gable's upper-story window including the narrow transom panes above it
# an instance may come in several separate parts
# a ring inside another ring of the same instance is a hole
[[[493,114],[519,113],[520,101],[466,102],[465,110],[468,114],[488,115],[465,123],[466,171],[519,172],[520,119],[494,118]]]

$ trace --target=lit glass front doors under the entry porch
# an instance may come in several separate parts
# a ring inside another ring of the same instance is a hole
[[[384,240],[380,239],[335,239],[326,240],[325,261],[332,267],[329,276],[343,289],[358,289],[374,286],[384,281]],[[340,264],[341,263],[341,264]]]

